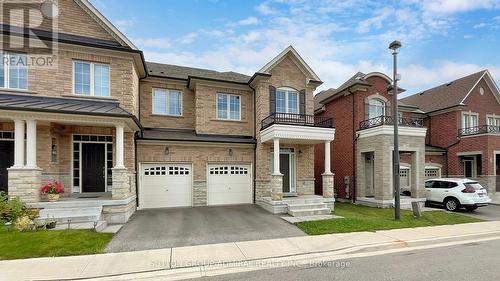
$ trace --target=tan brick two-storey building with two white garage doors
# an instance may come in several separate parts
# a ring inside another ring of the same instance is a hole
[[[253,76],[146,63],[88,1],[58,8],[56,30],[1,25],[2,58],[27,61],[5,42],[29,37],[54,43],[58,65],[2,64],[2,191],[42,217],[99,227],[137,208],[257,203],[330,213],[333,120],[314,116],[322,82],[293,47]],[[314,195],[317,144],[326,149],[323,196]],[[39,193],[49,180],[65,187],[59,202]]]

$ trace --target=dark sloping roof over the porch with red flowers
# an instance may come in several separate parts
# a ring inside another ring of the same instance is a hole
[[[118,102],[0,93],[0,109],[132,117]]]

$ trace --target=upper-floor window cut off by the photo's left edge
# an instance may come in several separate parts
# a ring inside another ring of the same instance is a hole
[[[0,53],[0,88],[28,89],[26,54]]]

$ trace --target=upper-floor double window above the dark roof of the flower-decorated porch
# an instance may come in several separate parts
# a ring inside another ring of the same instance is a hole
[[[73,73],[74,94],[109,97],[109,65],[75,61]]]

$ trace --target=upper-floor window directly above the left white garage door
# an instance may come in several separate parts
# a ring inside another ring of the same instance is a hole
[[[153,89],[153,114],[182,116],[182,92]]]

